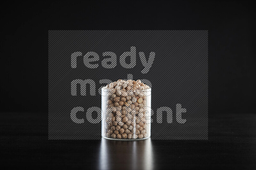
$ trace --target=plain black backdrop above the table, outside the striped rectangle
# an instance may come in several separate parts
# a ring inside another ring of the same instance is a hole
[[[255,112],[253,8],[234,1],[3,4],[0,110],[47,112],[48,30],[209,30],[209,113]]]

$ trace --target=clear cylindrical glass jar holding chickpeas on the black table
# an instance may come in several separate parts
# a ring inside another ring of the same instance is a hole
[[[101,136],[114,140],[147,139],[151,134],[151,89],[101,89]]]

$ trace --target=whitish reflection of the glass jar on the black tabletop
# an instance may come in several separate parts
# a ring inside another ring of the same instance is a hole
[[[151,139],[118,141],[101,138],[99,169],[154,169]]]

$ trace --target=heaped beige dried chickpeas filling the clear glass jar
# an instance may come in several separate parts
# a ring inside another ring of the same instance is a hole
[[[118,80],[108,84],[103,135],[113,139],[142,139],[149,137],[150,127],[147,117],[148,85],[140,80]]]

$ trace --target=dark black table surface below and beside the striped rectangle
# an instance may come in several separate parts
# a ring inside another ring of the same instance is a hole
[[[47,113],[1,113],[1,166],[255,169],[256,114],[209,114],[208,140],[48,140]]]

